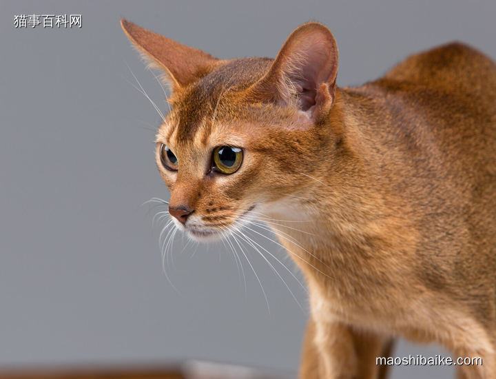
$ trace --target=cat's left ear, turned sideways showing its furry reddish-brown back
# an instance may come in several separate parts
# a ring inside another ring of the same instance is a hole
[[[125,19],[121,19],[121,26],[127,38],[152,66],[165,70],[166,79],[172,84],[173,90],[179,90],[205,76],[219,62],[210,54],[150,32]]]

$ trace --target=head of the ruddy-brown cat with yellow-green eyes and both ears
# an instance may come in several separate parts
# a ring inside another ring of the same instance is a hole
[[[339,139],[325,127],[338,71],[329,29],[300,26],[276,59],[220,60],[130,21],[121,25],[172,91],[156,163],[176,226],[207,240],[282,203],[298,209],[316,184],[309,176],[332,159]]]

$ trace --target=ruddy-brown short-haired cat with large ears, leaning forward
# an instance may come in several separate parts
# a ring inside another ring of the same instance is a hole
[[[493,61],[451,43],[338,88],[320,23],[276,59],[230,60],[121,24],[172,88],[156,162],[176,227],[211,240],[278,220],[310,294],[301,378],[383,378],[396,336],[496,378]]]

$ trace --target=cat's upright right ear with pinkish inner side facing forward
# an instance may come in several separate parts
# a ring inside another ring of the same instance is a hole
[[[324,25],[305,23],[294,30],[265,76],[252,90],[265,100],[296,105],[313,116],[332,106],[338,74],[338,46]]]

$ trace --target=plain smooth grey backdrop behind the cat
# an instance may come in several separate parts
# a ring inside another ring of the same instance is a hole
[[[83,28],[17,30],[23,13],[82,14]],[[338,84],[355,85],[453,39],[496,57],[495,16],[493,0],[0,1],[0,368],[190,357],[297,368],[307,303],[281,267],[303,309],[252,249],[270,311],[222,244],[192,256],[176,238],[167,272],[180,293],[167,282],[152,227],[160,209],[141,206],[168,196],[154,166],[159,118],[126,63],[166,107],[120,17],[220,58],[273,57],[293,28],[321,21],[340,48]],[[441,352],[401,342],[395,356]]]

